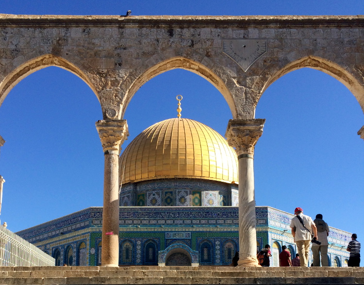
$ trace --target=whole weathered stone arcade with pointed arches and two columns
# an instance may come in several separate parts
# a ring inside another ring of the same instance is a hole
[[[51,65],[76,74],[97,95],[103,120],[96,127],[105,154],[102,264],[117,266],[118,163],[128,136],[127,105],[145,82],[171,69],[207,79],[233,116],[226,137],[237,152],[238,180],[244,181],[238,197],[239,265],[257,266],[253,155],[265,120],[254,118],[255,106],[276,79],[311,67],[342,82],[364,110],[363,23],[363,16],[2,14],[0,104],[17,82]],[[364,127],[358,134],[364,139]],[[124,247],[127,254],[128,244]],[[72,258],[76,249],[67,250]]]

